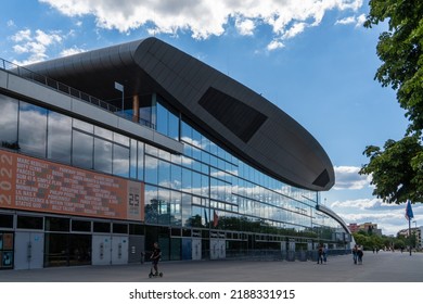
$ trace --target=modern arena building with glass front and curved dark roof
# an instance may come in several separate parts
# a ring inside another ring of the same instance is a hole
[[[0,268],[310,258],[349,249],[334,170],[292,117],[148,38],[0,60]]]

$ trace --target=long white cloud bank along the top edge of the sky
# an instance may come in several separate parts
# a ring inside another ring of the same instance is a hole
[[[257,23],[272,28],[268,50],[283,46],[309,26],[317,26],[330,10],[357,11],[362,0],[40,0],[68,16],[93,15],[97,26],[128,33],[141,26],[149,31],[177,35],[189,31],[195,39],[225,34],[231,17],[241,35],[253,35]]]

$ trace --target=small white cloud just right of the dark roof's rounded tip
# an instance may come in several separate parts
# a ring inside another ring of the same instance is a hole
[[[370,187],[371,176],[359,175],[360,167],[335,166],[335,186],[334,190],[359,190]]]

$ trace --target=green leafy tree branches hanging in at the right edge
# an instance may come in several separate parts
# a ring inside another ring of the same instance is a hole
[[[364,27],[388,24],[388,30],[379,37],[376,52],[383,63],[374,78],[396,90],[410,124],[405,138],[387,140],[384,150],[367,147],[363,154],[370,161],[360,174],[372,175],[373,193],[384,202],[422,202],[423,1],[370,0],[369,4]]]

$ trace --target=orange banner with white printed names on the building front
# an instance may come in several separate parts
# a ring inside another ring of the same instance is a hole
[[[144,185],[0,150],[0,207],[144,220]]]

